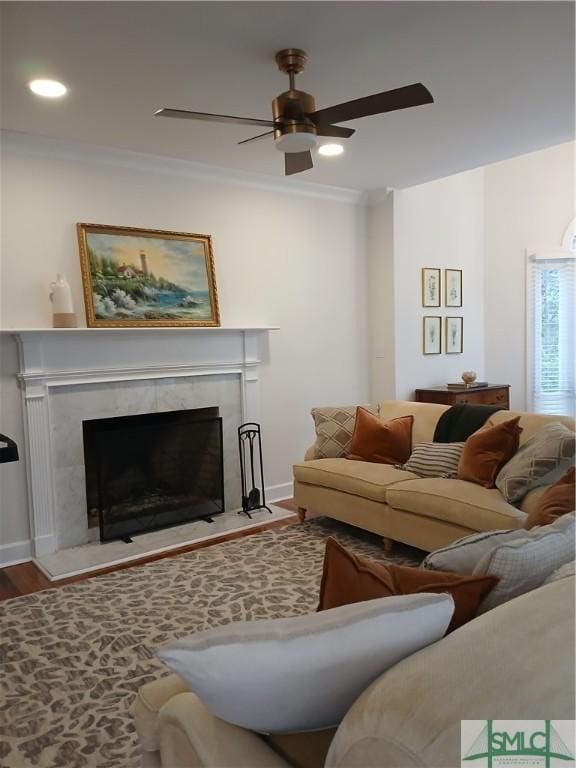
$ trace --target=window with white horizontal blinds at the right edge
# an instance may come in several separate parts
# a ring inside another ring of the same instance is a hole
[[[576,415],[575,274],[573,256],[528,263],[528,384],[536,413]]]

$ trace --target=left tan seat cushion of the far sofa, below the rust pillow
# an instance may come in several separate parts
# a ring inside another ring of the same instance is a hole
[[[393,483],[411,480],[416,475],[391,464],[372,464],[350,459],[314,459],[294,464],[299,483],[333,488],[372,501],[386,501],[386,489]]]

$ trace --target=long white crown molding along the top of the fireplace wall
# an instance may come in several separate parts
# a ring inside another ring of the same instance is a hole
[[[284,177],[277,179],[266,174],[239,171],[191,160],[181,160],[176,157],[133,152],[128,149],[103,147],[96,144],[83,144],[77,141],[64,141],[49,136],[6,129],[0,132],[0,143],[2,153],[57,158],[92,165],[108,165],[133,171],[251,187],[288,195],[303,195],[342,203],[362,204],[363,193],[361,190],[331,187]]]

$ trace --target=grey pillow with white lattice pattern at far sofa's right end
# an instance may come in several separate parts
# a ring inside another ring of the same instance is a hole
[[[576,434],[564,424],[546,424],[505,464],[496,488],[509,504],[518,504],[532,488],[552,485],[574,463]]]

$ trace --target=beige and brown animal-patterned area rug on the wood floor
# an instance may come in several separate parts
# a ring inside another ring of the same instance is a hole
[[[312,520],[0,604],[0,765],[137,768],[131,705],[154,651],[230,621],[313,611],[324,543],[415,564],[422,553]]]

